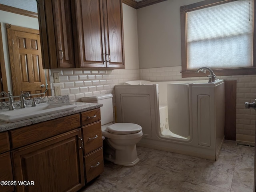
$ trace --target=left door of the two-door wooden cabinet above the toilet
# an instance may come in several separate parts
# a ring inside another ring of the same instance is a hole
[[[102,0],[75,1],[79,67],[106,67],[102,9]]]

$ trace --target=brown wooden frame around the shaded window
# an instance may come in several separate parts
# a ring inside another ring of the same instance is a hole
[[[194,4],[181,6],[180,7],[180,29],[181,29],[181,66],[182,66],[182,77],[198,77],[205,76],[203,73],[196,73],[196,71],[189,71],[187,68],[187,53],[186,53],[186,13],[192,10],[198,10],[210,6],[216,6],[218,4],[224,4],[236,0],[204,0]],[[241,67],[241,68],[229,68],[229,69],[213,69],[217,76],[230,76],[230,75],[248,75],[256,74],[256,2],[253,7],[253,55],[252,55],[252,67]],[[207,67],[207,66],[202,66]]]

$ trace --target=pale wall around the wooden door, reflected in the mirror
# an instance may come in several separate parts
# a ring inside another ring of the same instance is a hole
[[[28,27],[31,29],[39,29],[38,19],[0,10],[0,23],[2,25],[1,29],[4,47],[4,62],[6,65],[7,86],[8,90],[12,90],[12,78],[10,71],[6,24],[16,25],[20,27]]]

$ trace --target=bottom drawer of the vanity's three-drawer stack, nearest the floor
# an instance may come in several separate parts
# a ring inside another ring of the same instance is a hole
[[[84,157],[84,161],[86,171],[86,183],[88,183],[104,171],[103,149],[100,148],[97,151],[86,155]]]

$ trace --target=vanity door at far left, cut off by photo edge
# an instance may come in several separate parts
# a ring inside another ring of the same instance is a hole
[[[10,151],[0,154],[0,181],[13,181]],[[12,184],[12,183],[11,183]],[[1,192],[14,191],[14,185],[0,185]]]

